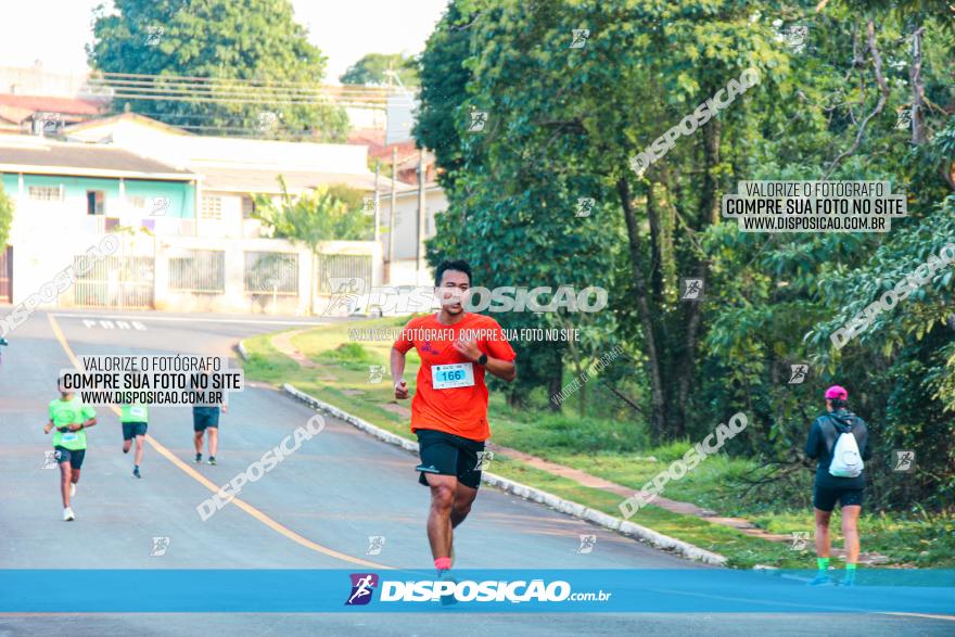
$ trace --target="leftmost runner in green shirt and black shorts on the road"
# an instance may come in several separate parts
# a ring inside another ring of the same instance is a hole
[[[76,494],[79,482],[79,470],[86,457],[86,432],[84,430],[97,423],[97,411],[91,405],[84,405],[80,399],[63,390],[58,383],[60,397],[50,400],[50,420],[43,426],[43,433],[53,431],[54,458],[60,464],[60,493],[63,496],[63,520],[76,519],[69,508],[69,497]]]

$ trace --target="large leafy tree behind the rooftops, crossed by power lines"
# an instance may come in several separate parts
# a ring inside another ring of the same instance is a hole
[[[113,100],[116,112],[128,104],[166,124],[214,133],[345,140],[344,110],[310,97],[321,84],[326,58],[294,22],[288,0],[113,4],[115,12],[105,5],[94,12],[93,42],[87,46],[90,66],[160,76],[128,79],[133,84],[116,91]],[[174,86],[173,76],[196,79]],[[181,97],[165,99],[169,91]]]

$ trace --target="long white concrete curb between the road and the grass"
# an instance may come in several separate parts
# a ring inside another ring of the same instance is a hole
[[[334,418],[344,420],[348,424],[357,426],[361,431],[379,438],[380,441],[396,445],[407,451],[411,451],[412,454],[418,453],[418,443],[409,441],[407,438],[403,438],[402,436],[387,432],[380,426],[375,426],[370,422],[361,420],[357,416],[352,416],[346,411],[342,411],[333,405],[329,405],[328,403],[319,400],[315,396],[310,396],[305,392],[296,390],[289,383],[284,383],[282,385],[282,391],[309,405],[314,409],[324,411],[329,416],[333,416]],[[626,520],[620,520],[617,518],[614,518],[613,515],[608,515],[602,511],[596,511],[583,505],[565,500],[553,494],[540,491],[539,488],[527,486],[526,484],[521,484],[520,482],[514,482],[512,480],[501,477],[500,475],[495,475],[494,473],[491,473],[488,471],[482,472],[482,482],[491,486],[497,487],[505,493],[509,493],[511,495],[544,505],[546,507],[550,507],[551,509],[560,513],[564,513],[580,520],[586,520],[591,524],[602,526],[603,528],[608,528],[610,531],[615,531],[616,533],[620,533],[622,535],[637,538],[641,542],[649,543],[657,548],[673,551],[685,558],[689,558],[691,560],[696,560],[714,566],[723,566],[726,564],[726,558],[718,553],[701,549],[700,547],[693,546],[687,542],[683,542],[682,539],[676,539],[675,537],[663,535],[662,533],[658,533],[652,528],[647,528],[646,526],[640,526],[639,524],[635,524]]]

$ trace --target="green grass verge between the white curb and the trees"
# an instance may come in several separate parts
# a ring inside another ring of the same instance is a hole
[[[277,385],[291,383],[386,431],[413,439],[407,418],[385,408],[395,404],[387,373],[391,341],[349,342],[348,339],[348,330],[356,327],[398,328],[406,322],[405,318],[373,319],[322,326],[296,334],[292,337],[293,345],[315,362],[317,369],[302,368],[279,353],[271,345],[273,334],[255,336],[245,341],[250,353],[245,378]],[[409,352],[405,378],[412,392],[418,364],[417,354]],[[369,382],[372,365],[385,366],[381,383]],[[331,377],[335,380],[322,380]],[[410,400],[403,405],[410,408]],[[488,417],[495,443],[634,489],[683,457],[690,446],[689,441],[651,446],[646,426],[632,421],[514,410],[506,405],[500,393],[492,393]],[[751,568],[763,563],[814,568],[814,522],[808,501],[812,473],[806,470],[788,484],[742,496],[739,479],[755,469],[757,464],[750,459],[712,456],[683,480],[667,483],[663,496],[693,502],[721,515],[746,518],[771,533],[807,532],[810,542],[805,549],[791,550],[789,544],[753,538],[727,526],[653,506],[641,509],[631,521],[724,555],[733,566]],[[524,462],[498,455],[492,471],[606,513],[620,514],[619,495],[581,486]],[[860,531],[864,551],[888,556],[893,563],[955,566],[955,518],[951,515],[929,515],[922,511],[907,515],[866,514],[860,521]],[[841,546],[838,515],[833,517],[831,533],[833,546]]]

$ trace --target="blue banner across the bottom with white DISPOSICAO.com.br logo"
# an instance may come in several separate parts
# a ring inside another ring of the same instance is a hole
[[[836,573],[0,570],[0,612],[955,613],[955,571]]]

